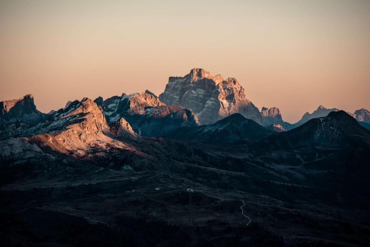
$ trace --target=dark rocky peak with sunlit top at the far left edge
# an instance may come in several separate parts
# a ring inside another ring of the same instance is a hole
[[[15,100],[1,101],[0,108],[0,127],[5,127],[18,120],[26,124],[36,124],[45,115],[36,109],[32,94]]]

